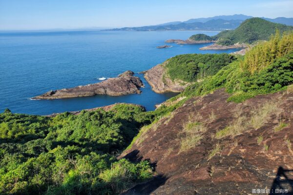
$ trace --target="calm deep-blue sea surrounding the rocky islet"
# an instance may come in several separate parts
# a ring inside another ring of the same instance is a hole
[[[141,104],[147,110],[154,110],[155,104],[175,94],[154,93],[142,74],[136,74],[146,85],[142,94],[54,100],[29,98],[49,90],[100,82],[98,78],[116,77],[126,70],[138,73],[179,54],[237,51],[199,50],[209,44],[171,44],[171,48],[156,48],[164,45],[166,39],[188,39],[197,33],[211,36],[218,32],[1,32],[0,112],[9,108],[13,113],[48,115],[116,102]]]

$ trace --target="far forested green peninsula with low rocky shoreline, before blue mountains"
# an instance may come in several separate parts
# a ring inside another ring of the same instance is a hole
[[[248,51],[251,44],[260,40],[269,40],[271,35],[278,30],[281,33],[293,30],[292,26],[274,23],[261,18],[251,18],[243,21],[235,30],[224,30],[215,36],[205,34],[192,35],[187,40],[168,39],[165,42],[177,44],[210,43],[214,44],[200,48],[201,50],[226,50],[226,49],[245,49],[242,55]]]

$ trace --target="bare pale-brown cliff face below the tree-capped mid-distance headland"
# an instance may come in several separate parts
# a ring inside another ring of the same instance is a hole
[[[167,62],[165,62],[167,63]],[[151,69],[144,71],[146,81],[156,93],[182,92],[189,83],[182,80],[172,81],[168,78],[163,64],[158,64]]]

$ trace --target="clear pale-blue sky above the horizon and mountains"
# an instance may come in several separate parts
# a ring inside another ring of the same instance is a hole
[[[293,0],[0,0],[0,30],[134,27],[233,14],[293,18]]]

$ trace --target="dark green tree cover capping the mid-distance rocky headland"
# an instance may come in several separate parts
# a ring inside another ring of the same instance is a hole
[[[235,59],[229,54],[186,54],[168,59],[165,67],[172,80],[194,82],[216,74]]]

